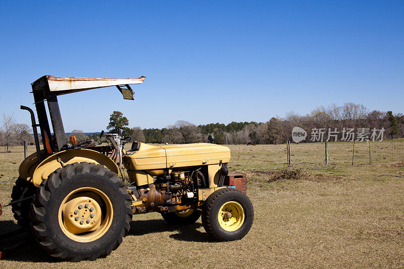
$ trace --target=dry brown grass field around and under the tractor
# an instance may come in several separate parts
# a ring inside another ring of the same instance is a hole
[[[335,143],[329,153],[340,156],[330,158],[326,166],[321,143],[293,144],[292,164],[302,168],[301,174],[297,179],[282,179],[272,174],[286,166],[285,145],[229,147],[230,170],[247,174],[247,195],[255,208],[254,224],[243,239],[213,242],[200,220],[176,227],[167,225],[158,213],[149,213],[133,217],[129,235],[106,258],[60,262],[29,242],[0,260],[0,267],[404,267],[402,162],[366,165],[363,152],[369,152],[364,146],[356,152],[363,154],[363,159],[354,166],[342,165],[344,162],[337,160],[346,158],[348,163],[352,151],[346,144]],[[395,161],[401,160],[402,153],[395,153],[388,145],[382,147],[393,151],[391,161],[394,156]],[[10,183],[16,180],[23,159],[22,147],[11,150],[0,153],[0,201],[10,200]],[[34,152],[34,147],[29,150]],[[0,232],[15,228],[11,210],[6,208],[0,217]],[[0,246],[21,239],[0,242]]]

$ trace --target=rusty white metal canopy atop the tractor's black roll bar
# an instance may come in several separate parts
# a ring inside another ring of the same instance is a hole
[[[124,95],[125,99],[129,96],[126,91],[125,94],[120,86],[126,85],[129,88],[130,84],[141,84],[145,77],[141,76],[139,78],[127,78],[127,79],[116,79],[116,78],[76,78],[76,77],[54,77],[54,76],[43,76],[35,82],[32,83],[33,92],[43,92],[45,97],[47,94],[62,95],[73,92],[91,90],[96,88],[104,88],[110,86],[117,86],[121,93]],[[123,88],[126,90],[126,88]],[[46,97],[45,97],[46,98]]]

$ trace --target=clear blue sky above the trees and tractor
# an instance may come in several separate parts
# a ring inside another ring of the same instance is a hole
[[[136,78],[64,95],[65,131],[265,122],[317,105],[404,113],[404,1],[1,3],[0,112],[29,123],[43,75]]]

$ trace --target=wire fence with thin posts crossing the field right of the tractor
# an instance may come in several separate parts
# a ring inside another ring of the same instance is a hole
[[[355,142],[228,145],[234,170],[321,168],[404,162],[404,139]]]

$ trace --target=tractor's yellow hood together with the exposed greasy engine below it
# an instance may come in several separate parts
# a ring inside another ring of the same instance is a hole
[[[131,182],[128,189],[136,198],[134,213],[196,208],[206,199],[199,197],[200,189],[211,193],[224,185],[229,160],[230,149],[221,145],[133,142],[122,162]]]

